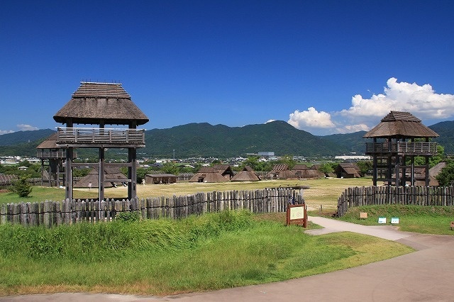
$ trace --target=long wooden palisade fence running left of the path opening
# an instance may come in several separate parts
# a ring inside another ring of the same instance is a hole
[[[114,220],[118,213],[137,213],[142,219],[186,218],[223,210],[245,209],[252,213],[287,211],[293,198],[304,203],[299,190],[292,188],[255,191],[214,191],[188,196],[132,199],[122,201],[73,200],[40,203],[6,203],[0,206],[0,224],[22,225],[71,224],[79,221],[95,223]]]

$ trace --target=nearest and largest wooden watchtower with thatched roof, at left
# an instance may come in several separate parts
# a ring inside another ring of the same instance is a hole
[[[72,200],[72,168],[87,165],[72,161],[77,148],[99,150],[99,201],[104,199],[104,183],[118,180],[105,179],[105,167],[128,167],[128,198],[137,196],[136,150],[145,147],[145,130],[137,127],[149,120],[121,84],[81,82],[70,101],[55,113],[54,120],[65,124],[65,127],[57,128],[55,145],[65,150],[66,198]],[[106,125],[112,128],[106,128]],[[127,128],[113,128],[113,125],[126,125]],[[127,149],[128,162],[106,163],[106,148]]]

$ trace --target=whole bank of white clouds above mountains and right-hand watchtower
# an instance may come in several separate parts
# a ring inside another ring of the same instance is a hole
[[[408,111],[424,119],[444,119],[454,116],[454,95],[436,94],[430,84],[422,86],[387,80],[382,94],[373,94],[370,99],[360,94],[352,97],[350,108],[326,113],[310,107],[307,111],[290,113],[287,123],[307,130],[329,130],[331,133],[353,133],[370,130],[389,111]],[[320,132],[319,131],[319,132]]]

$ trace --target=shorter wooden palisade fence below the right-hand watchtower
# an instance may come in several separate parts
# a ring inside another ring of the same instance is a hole
[[[338,198],[338,217],[352,206],[402,204],[416,206],[454,206],[453,186],[355,186]]]

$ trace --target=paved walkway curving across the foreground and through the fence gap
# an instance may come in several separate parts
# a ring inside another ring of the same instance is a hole
[[[163,298],[57,293],[0,298],[0,301],[454,301],[454,236],[405,233],[391,225],[363,226],[321,217],[309,220],[321,235],[350,231],[414,247],[393,259],[289,281]],[[453,231],[454,232],[454,231]]]

